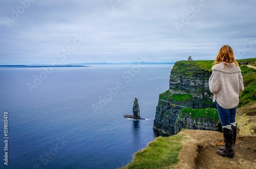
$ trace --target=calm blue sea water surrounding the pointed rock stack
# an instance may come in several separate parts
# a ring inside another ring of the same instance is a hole
[[[0,168],[117,168],[154,140],[173,65],[0,69]],[[47,76],[46,76],[47,75]],[[38,80],[40,77],[42,80]],[[35,85],[31,92],[27,83]],[[141,117],[133,114],[138,98]],[[4,112],[8,112],[8,166]]]

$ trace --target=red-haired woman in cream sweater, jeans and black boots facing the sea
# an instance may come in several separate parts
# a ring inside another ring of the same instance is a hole
[[[211,69],[209,88],[214,94],[212,102],[216,101],[225,142],[225,147],[220,147],[217,154],[233,158],[234,143],[237,137],[236,110],[239,93],[244,90],[244,84],[241,69],[234,59],[230,46],[221,47]]]

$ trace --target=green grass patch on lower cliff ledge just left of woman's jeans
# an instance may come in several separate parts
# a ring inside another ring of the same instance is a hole
[[[205,109],[192,109],[188,107],[184,107],[181,110],[180,118],[184,117],[186,114],[191,116],[193,119],[198,117],[206,117],[208,119],[214,120],[214,122],[218,122],[219,115],[216,109],[205,108]]]

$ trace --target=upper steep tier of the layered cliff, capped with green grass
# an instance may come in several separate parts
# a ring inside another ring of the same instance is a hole
[[[212,105],[212,94],[208,79],[211,76],[212,61],[179,61],[170,72],[169,93],[190,94],[190,101],[185,100],[184,106],[195,109]],[[173,104],[181,105],[174,100]]]

